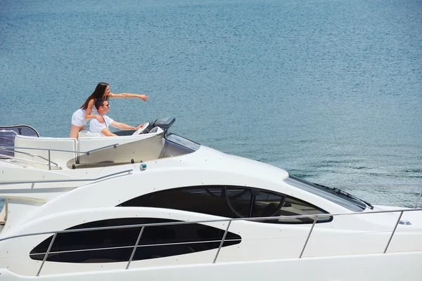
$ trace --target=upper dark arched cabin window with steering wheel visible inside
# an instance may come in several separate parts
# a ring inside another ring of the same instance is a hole
[[[135,197],[120,207],[156,207],[192,211],[226,218],[328,214],[313,204],[279,192],[239,186],[193,186]],[[321,217],[317,223],[332,221]],[[264,223],[313,223],[314,218],[271,219]]]

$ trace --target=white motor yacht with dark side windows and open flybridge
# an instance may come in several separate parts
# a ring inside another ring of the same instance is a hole
[[[372,205],[173,122],[78,139],[2,127],[0,279],[420,280],[418,202]]]

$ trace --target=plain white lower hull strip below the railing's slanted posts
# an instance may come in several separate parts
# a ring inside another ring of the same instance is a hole
[[[422,252],[328,256],[184,266],[157,266],[128,270],[97,270],[29,277],[0,270],[4,280],[421,280],[418,266]]]

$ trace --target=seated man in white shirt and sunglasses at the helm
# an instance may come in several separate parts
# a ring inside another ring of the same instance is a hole
[[[112,126],[120,130],[137,130],[143,125],[141,124],[137,127],[129,126],[127,124],[115,122],[113,119],[106,116],[106,113],[110,111],[110,104],[108,103],[108,100],[104,98],[98,98],[95,101],[95,107],[97,114],[103,117],[104,123],[100,123],[95,118],[91,119],[91,122],[89,122],[89,131],[91,133],[102,133],[103,136],[117,136],[115,133],[110,132],[108,127]]]

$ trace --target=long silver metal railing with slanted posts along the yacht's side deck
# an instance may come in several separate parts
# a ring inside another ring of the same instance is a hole
[[[369,214],[385,214],[385,213],[399,213],[399,216],[397,218],[397,221],[395,222],[394,228],[390,234],[390,237],[388,239],[387,244],[385,244],[385,248],[383,250],[383,254],[386,254],[388,251],[388,247],[390,246],[390,242],[392,240],[392,237],[395,235],[395,232],[397,230],[397,226],[399,224],[405,224],[404,221],[401,221],[402,215],[405,212],[411,212],[411,211],[422,211],[422,209],[395,209],[395,210],[388,210],[388,211],[366,211],[366,212],[359,212],[359,213],[340,213],[340,214],[318,214],[318,215],[302,215],[302,216],[271,216],[271,217],[263,217],[263,218],[224,218],[224,219],[215,219],[215,220],[203,220],[203,221],[178,221],[178,222],[169,222],[169,223],[147,223],[147,224],[134,224],[134,225],[127,225],[127,226],[105,226],[105,227],[98,227],[98,228],[79,228],[79,229],[70,229],[70,230],[54,230],[54,231],[46,231],[46,232],[40,232],[40,233],[27,233],[23,235],[14,235],[10,237],[4,237],[0,239],[0,242],[5,240],[11,240],[16,239],[19,237],[28,237],[28,236],[34,236],[34,235],[46,235],[46,234],[52,234],[53,238],[49,244],[49,247],[47,251],[44,254],[44,259],[39,266],[39,270],[37,272],[37,276],[41,273],[41,269],[44,266],[44,263],[49,256],[49,254],[58,254],[58,253],[70,253],[74,251],[60,251],[60,252],[51,252],[51,247],[53,246],[54,241],[56,240],[56,237],[58,234],[61,233],[77,233],[82,231],[95,231],[95,230],[110,230],[110,229],[124,229],[124,228],[141,228],[139,235],[137,237],[136,243],[133,246],[132,253],[130,255],[129,260],[126,263],[125,269],[129,269],[130,263],[132,262],[132,259],[134,257],[135,251],[138,247],[141,247],[139,245],[139,241],[141,240],[142,234],[145,230],[145,228],[153,227],[153,226],[175,226],[175,225],[186,225],[186,224],[194,224],[194,223],[217,223],[217,222],[228,222],[226,229],[224,230],[224,235],[221,240],[212,240],[212,241],[201,241],[202,243],[206,242],[219,242],[219,248],[217,249],[217,253],[214,256],[214,259],[212,260],[212,263],[215,263],[217,261],[217,258],[219,256],[219,252],[222,249],[222,246],[224,242],[226,241],[226,235],[229,232],[229,228],[231,226],[231,223],[234,221],[266,221],[266,220],[286,220],[286,219],[292,219],[292,218],[314,218],[314,221],[312,223],[312,226],[307,233],[307,238],[305,240],[305,243],[302,245],[302,250],[300,251],[300,255],[298,256],[298,259],[302,259],[303,253],[307,247],[307,244],[309,242],[309,238],[312,235],[312,231],[314,230],[314,226],[316,224],[316,221],[318,221],[319,218],[323,217],[334,217],[334,216],[365,216]],[[229,241],[229,240],[227,240]],[[174,244],[190,244],[191,242],[184,242],[184,243],[167,243],[167,244],[160,244],[161,246],[165,245],[174,245]],[[142,247],[147,246],[153,246],[154,244],[147,244],[143,245]],[[113,247],[112,249],[123,249],[127,247]],[[97,248],[97,249],[80,249],[76,251],[95,251],[100,250],[104,248]],[[43,253],[41,253],[43,254]]]

